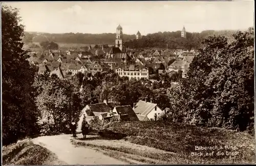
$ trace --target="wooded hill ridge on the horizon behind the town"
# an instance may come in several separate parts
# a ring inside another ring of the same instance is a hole
[[[159,47],[166,48],[182,48],[182,49],[198,49],[201,47],[201,42],[204,38],[214,35],[224,35],[229,40],[234,30],[213,31],[207,30],[201,33],[186,33],[186,39],[181,38],[181,31],[176,32],[158,32],[154,34],[147,34],[142,36],[141,39],[136,40],[135,35],[123,35],[124,44],[130,48],[146,48],[146,47]],[[25,43],[30,42],[42,42],[53,41],[57,43],[83,43],[83,44],[114,44],[115,34],[82,34],[82,33],[65,33],[65,34],[49,34],[49,33],[37,33],[37,32],[25,32],[23,41]]]

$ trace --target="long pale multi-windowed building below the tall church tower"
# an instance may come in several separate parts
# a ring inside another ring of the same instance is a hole
[[[137,80],[141,78],[148,79],[150,73],[145,66],[142,65],[120,65],[116,67],[116,73],[119,76],[127,76],[129,79],[135,78]]]

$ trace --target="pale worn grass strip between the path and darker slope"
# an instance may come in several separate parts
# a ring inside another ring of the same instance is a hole
[[[163,150],[136,145],[124,140],[109,140],[101,136],[91,136],[83,140],[82,138],[72,139],[72,144],[85,146],[103,151],[105,154],[124,160],[132,160],[133,163],[147,164],[167,164],[170,162],[182,163],[182,159],[175,153]]]

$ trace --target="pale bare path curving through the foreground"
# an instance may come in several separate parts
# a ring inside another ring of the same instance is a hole
[[[33,143],[49,149],[67,164],[129,164],[90,148],[75,147],[70,139],[70,134],[40,136]]]

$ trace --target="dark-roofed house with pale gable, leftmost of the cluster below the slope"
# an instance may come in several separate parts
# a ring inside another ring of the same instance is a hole
[[[86,121],[90,121],[94,117],[104,117],[105,115],[110,116],[110,112],[114,109],[115,105],[113,102],[107,102],[97,104],[88,104],[81,111],[82,115],[78,121],[78,130],[81,129],[83,117],[86,117]],[[100,116],[101,115],[101,116]]]

